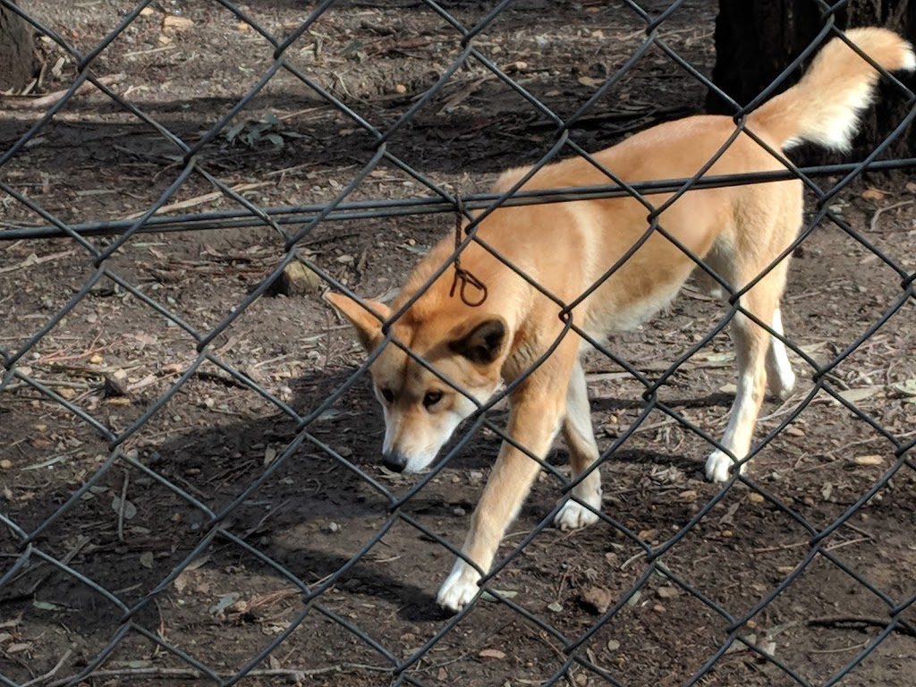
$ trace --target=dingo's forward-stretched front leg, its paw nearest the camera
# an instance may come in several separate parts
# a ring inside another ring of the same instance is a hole
[[[548,389],[564,389],[564,385],[553,380],[549,385],[532,382],[533,378],[513,395],[508,432],[520,446],[542,458],[560,429],[564,406],[563,392],[550,396]],[[540,463],[503,442],[462,548],[463,557],[480,570],[490,569],[499,542],[518,514],[539,470]],[[438,604],[450,611],[461,610],[477,594],[480,577],[474,566],[459,558],[439,590]]]

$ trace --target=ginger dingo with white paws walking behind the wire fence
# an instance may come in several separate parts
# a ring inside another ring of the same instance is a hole
[[[854,29],[846,37],[889,71],[916,67],[910,44],[886,29]],[[845,149],[856,131],[858,114],[871,102],[876,82],[878,71],[842,39],[834,38],[797,85],[748,116],[747,128],[776,150],[802,141]],[[692,116],[650,128],[594,158],[631,183],[688,178],[734,132],[729,117]],[[742,133],[708,174],[779,169],[784,166],[773,155]],[[527,171],[505,172],[496,181],[496,191],[507,191]],[[587,160],[571,158],[540,169],[522,188],[536,191],[608,182]],[[670,197],[649,198],[658,207]],[[477,237],[554,297],[571,303],[647,231],[648,213],[645,205],[629,197],[503,207],[480,222]],[[733,289],[757,278],[791,244],[801,224],[802,182],[798,180],[689,191],[660,214],[660,225]],[[353,323],[365,349],[373,351],[383,339],[383,322],[417,293],[452,251],[449,236],[420,262],[390,308],[337,293],[329,293],[327,299]],[[387,322],[398,342],[439,375],[397,345],[387,345],[371,366],[376,397],[385,414],[382,460],[396,472],[427,467],[458,424],[474,413],[477,406],[471,398],[484,403],[501,380],[517,379],[563,331],[560,306],[482,245],[467,245],[461,260],[488,289],[479,307],[450,293],[455,276],[450,266],[402,317]],[[780,335],[780,298],[788,263],[788,257],[783,259],[740,298],[742,308]],[[694,267],[679,247],[653,232],[574,308],[573,322],[595,338],[635,327],[671,301]],[[537,456],[545,456],[562,431],[575,478],[593,466],[599,453],[578,359],[587,344],[569,333],[511,392],[507,431],[514,442]],[[738,380],[722,439],[726,451],[716,450],[706,461],[706,476],[716,482],[725,481],[736,460],[747,456],[765,388],[784,396],[795,382],[779,338],[740,312],[731,322],[731,335]],[[461,387],[463,393],[443,380]],[[525,453],[503,443],[471,518],[462,557],[439,592],[442,607],[457,611],[478,593],[480,571],[489,570],[499,541],[539,469]],[[601,507],[598,470],[592,470],[571,494],[574,498],[567,499],[555,524],[573,529],[594,523]]]

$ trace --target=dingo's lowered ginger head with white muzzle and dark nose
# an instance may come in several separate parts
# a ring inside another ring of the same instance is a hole
[[[382,343],[379,317],[391,314],[386,305],[365,302],[376,317],[343,294],[329,293],[327,300],[353,323],[367,353]],[[458,322],[441,319],[417,322],[408,311],[392,326],[398,342],[438,375],[396,344],[387,344],[369,368],[385,413],[382,463],[397,473],[415,473],[432,463],[455,428],[476,409],[471,398],[483,403],[499,387],[507,349],[506,322],[494,315]]]

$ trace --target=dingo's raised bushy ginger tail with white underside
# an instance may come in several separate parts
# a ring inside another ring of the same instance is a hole
[[[887,71],[916,69],[912,46],[893,31],[853,28],[845,36]],[[877,82],[878,71],[841,38],[833,38],[800,82],[749,115],[748,128],[759,127],[783,149],[808,141],[847,150]]]

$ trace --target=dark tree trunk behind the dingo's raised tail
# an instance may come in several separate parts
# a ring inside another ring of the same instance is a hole
[[[713,82],[738,104],[748,104],[798,57],[823,25],[813,0],[719,0]],[[850,0],[837,13],[836,25],[889,27],[912,40],[916,38],[916,0]],[[801,70],[796,71],[780,86],[780,91],[791,86],[801,74]],[[911,76],[902,73],[896,76],[911,89],[916,86]],[[725,101],[712,91],[706,97],[706,108],[716,114],[732,114]],[[909,110],[905,96],[898,89],[882,85],[878,106],[863,116],[848,159],[866,157]],[[911,126],[882,157],[908,158],[914,154],[916,127]],[[805,157],[805,162],[812,161]],[[816,159],[824,158],[819,155]]]

